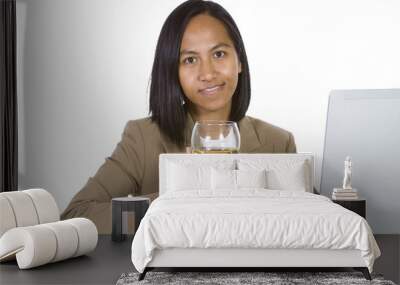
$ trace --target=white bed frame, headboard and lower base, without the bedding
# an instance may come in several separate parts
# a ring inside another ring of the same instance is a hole
[[[305,154],[228,154],[228,155],[207,155],[202,154],[193,157],[188,154],[161,154],[159,162],[160,172],[160,195],[166,191],[166,167],[168,160],[208,160],[218,158],[267,158],[273,157],[283,159],[304,159],[310,166],[310,180],[314,181],[314,159],[313,155]],[[313,192],[312,183],[308,189]],[[206,269],[214,271],[220,268],[230,269],[229,271],[265,271],[265,269],[290,268],[312,269],[315,268],[343,268],[350,267],[361,271],[367,280],[371,275],[361,257],[359,250],[331,250],[331,249],[254,249],[254,248],[169,248],[157,249],[153,259],[149,262],[139,280],[143,280],[148,271],[165,268]]]

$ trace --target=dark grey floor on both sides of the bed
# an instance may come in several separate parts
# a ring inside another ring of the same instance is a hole
[[[99,236],[96,249],[87,256],[40,267],[19,270],[16,261],[0,263],[0,284],[115,284],[122,273],[136,271],[131,261],[132,236],[112,242]],[[382,256],[374,272],[398,283],[400,280],[400,235],[375,235]]]

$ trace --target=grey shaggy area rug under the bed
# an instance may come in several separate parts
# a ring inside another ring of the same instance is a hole
[[[117,285],[133,284],[379,284],[395,285],[382,275],[372,274],[372,281],[361,272],[148,272],[142,281],[139,273],[124,273]]]

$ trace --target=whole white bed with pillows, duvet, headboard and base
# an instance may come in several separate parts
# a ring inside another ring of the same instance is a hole
[[[352,267],[380,255],[364,218],[313,193],[311,154],[162,154],[160,195],[132,242],[154,268]]]

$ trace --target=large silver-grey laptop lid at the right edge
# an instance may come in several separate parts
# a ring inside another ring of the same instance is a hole
[[[330,93],[321,194],[342,187],[346,156],[374,233],[400,234],[400,89]]]

